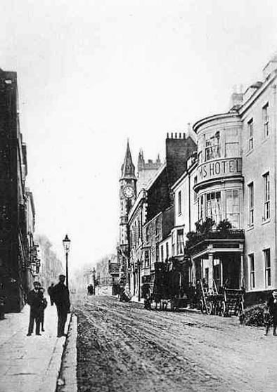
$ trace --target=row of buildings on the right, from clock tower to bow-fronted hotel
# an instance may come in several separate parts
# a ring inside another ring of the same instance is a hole
[[[277,288],[277,57],[262,81],[234,92],[228,112],[167,134],[165,162],[137,171],[129,143],[120,178],[120,280],[141,296],[155,263],[178,260],[183,287],[243,287],[246,301]],[[180,282],[179,282],[180,283]]]

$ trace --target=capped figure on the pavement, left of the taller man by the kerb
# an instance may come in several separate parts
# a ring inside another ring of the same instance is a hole
[[[27,296],[27,303],[30,305],[30,321],[28,327],[27,337],[30,337],[34,332],[34,322],[36,323],[36,335],[39,333],[40,325],[40,309],[41,309],[41,294],[39,288],[41,284],[34,282],[34,289],[32,289]]]

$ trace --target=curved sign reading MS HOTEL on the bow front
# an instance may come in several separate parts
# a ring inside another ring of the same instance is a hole
[[[213,159],[198,166],[197,185],[217,178],[240,176],[241,172],[241,158]]]

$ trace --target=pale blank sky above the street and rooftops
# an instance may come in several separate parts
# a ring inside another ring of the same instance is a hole
[[[134,164],[167,132],[228,110],[277,51],[277,1],[9,0],[0,67],[18,73],[36,232],[74,269],[115,252],[127,138]]]

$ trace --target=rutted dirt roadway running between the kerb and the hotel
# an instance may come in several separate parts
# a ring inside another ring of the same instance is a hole
[[[79,392],[276,391],[272,330],[110,296],[79,299],[75,313]]]

